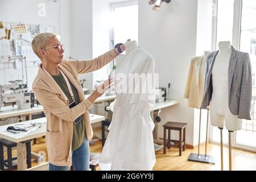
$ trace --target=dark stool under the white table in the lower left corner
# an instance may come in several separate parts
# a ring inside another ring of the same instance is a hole
[[[26,151],[27,151],[27,168],[31,168],[31,140],[26,140],[22,143],[26,143]],[[4,159],[3,156],[3,146],[7,147],[7,160]],[[0,139],[0,169],[5,170],[5,166],[7,170],[12,170],[13,167],[17,165],[13,165],[13,160],[17,158],[13,158],[11,155],[11,148],[16,147],[17,143],[11,142],[10,140]],[[6,163],[7,162],[7,163]]]

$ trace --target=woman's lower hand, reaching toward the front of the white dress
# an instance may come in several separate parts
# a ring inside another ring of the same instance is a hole
[[[95,102],[95,100],[102,96],[106,90],[108,90],[113,82],[113,78],[109,78],[108,80],[105,80],[100,84],[96,90],[88,97],[88,100],[92,102],[92,104]]]

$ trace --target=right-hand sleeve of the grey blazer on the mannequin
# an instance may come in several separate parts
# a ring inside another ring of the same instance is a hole
[[[240,104],[238,118],[251,120],[251,99],[252,99],[252,77],[250,57],[247,54],[247,59],[243,63],[243,75],[240,93]]]

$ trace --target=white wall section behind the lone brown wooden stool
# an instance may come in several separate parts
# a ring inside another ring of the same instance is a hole
[[[185,122],[187,143],[193,145],[193,109],[183,98],[191,57],[196,54],[197,0],[172,0],[163,3],[159,11],[152,10],[148,1],[139,4],[139,46],[155,59],[159,86],[171,82],[171,98],[179,105],[162,110],[159,134],[167,121]],[[173,132],[172,138],[178,134]]]

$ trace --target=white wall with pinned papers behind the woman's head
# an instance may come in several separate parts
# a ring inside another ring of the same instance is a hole
[[[46,4],[46,16],[38,16],[39,3]],[[55,26],[55,32],[60,34],[61,42],[65,44],[66,51],[64,56],[71,54],[71,38],[70,38],[70,0],[61,0],[57,2],[49,0],[0,0],[0,20],[3,22],[22,22],[27,24],[46,24]],[[0,63],[1,64],[1,63]],[[38,65],[28,63],[28,88],[31,89],[32,81],[38,71]],[[21,71],[13,68],[13,65],[6,65],[4,71],[1,69],[0,84],[8,84],[7,81],[21,78]]]

